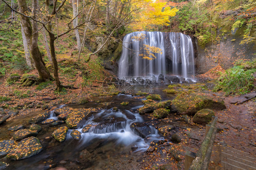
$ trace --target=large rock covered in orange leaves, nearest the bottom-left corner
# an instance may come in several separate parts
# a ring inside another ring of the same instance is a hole
[[[43,146],[39,139],[36,137],[29,137],[20,141],[6,157],[12,160],[21,160],[36,155],[42,150]]]

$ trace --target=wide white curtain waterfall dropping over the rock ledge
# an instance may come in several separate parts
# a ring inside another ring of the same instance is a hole
[[[134,40],[145,34],[144,39]],[[154,53],[153,60],[143,59],[143,44],[162,50]],[[168,45],[166,45],[168,44]],[[123,51],[119,60],[118,77],[149,77],[176,75],[191,78],[195,75],[194,50],[192,40],[182,33],[133,32],[123,39]]]

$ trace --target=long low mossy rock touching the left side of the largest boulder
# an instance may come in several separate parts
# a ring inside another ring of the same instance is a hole
[[[160,108],[166,108],[170,109],[171,108],[171,101],[163,101],[163,102],[147,102],[145,106],[141,107],[138,112],[139,114],[145,114],[145,113],[152,113],[156,109]]]

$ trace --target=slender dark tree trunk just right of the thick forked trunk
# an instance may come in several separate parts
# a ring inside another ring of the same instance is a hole
[[[52,63],[53,63],[53,68],[54,68],[54,78],[55,78],[55,82],[56,82],[56,91],[61,92],[62,90],[62,85],[61,85],[61,81],[59,79],[59,75],[58,75],[58,63],[56,60],[56,55],[55,55],[55,46],[54,46],[54,40],[55,40],[55,36],[52,33],[49,33],[50,36],[50,49],[51,49],[51,59],[52,59]]]

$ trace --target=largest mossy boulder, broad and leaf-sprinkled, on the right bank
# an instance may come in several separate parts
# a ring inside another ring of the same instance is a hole
[[[184,92],[177,96],[172,103],[181,114],[194,114],[201,109],[225,109],[223,99],[206,93]]]

